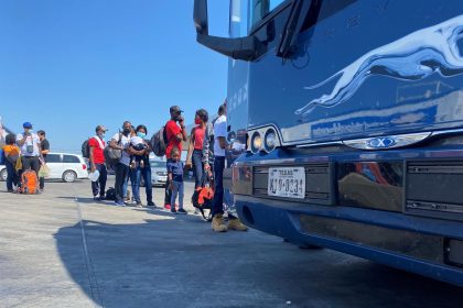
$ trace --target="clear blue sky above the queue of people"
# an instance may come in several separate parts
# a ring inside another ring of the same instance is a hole
[[[228,35],[228,3],[208,1],[209,32]],[[125,120],[149,135],[179,105],[216,111],[227,58],[196,43],[193,0],[0,0],[0,117],[45,130],[53,152],[79,153]]]

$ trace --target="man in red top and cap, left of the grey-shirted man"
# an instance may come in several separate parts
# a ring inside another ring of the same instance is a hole
[[[105,134],[108,130],[104,125],[98,125],[95,129],[96,135],[88,140],[89,147],[89,163],[90,172],[98,170],[98,180],[91,182],[91,191],[94,194],[95,201],[101,201],[105,199],[106,180],[108,178],[108,172],[105,165]]]

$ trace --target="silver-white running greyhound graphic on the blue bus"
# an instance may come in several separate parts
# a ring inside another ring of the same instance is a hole
[[[421,80],[439,73],[441,76],[463,74],[463,57],[457,42],[463,38],[463,15],[418,30],[392,43],[370,51],[349,66],[322,82],[304,87],[313,90],[338,78],[331,94],[310,101],[295,111],[309,113],[314,107],[334,107],[348,100],[370,76],[402,80]],[[463,51],[462,51],[463,52]]]

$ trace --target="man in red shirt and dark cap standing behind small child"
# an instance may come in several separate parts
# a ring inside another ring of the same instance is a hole
[[[186,130],[185,130],[185,120],[182,117],[182,110],[179,106],[172,106],[170,108],[171,112],[171,120],[165,123],[165,136],[168,146],[165,147],[165,157],[168,158],[168,163],[171,162],[171,152],[172,148],[179,148],[180,153],[182,153],[182,141],[186,141]],[[179,124],[177,124],[179,122]],[[165,199],[164,199],[164,208],[170,210],[171,209],[171,194],[172,190],[169,189],[170,183],[165,185]],[[175,205],[172,205],[175,207]]]

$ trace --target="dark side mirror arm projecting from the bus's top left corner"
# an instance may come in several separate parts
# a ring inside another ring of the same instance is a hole
[[[196,28],[196,42],[235,59],[254,61],[262,54],[262,43],[256,36],[218,37],[209,35],[207,0],[194,0],[193,21]]]

